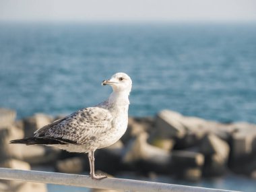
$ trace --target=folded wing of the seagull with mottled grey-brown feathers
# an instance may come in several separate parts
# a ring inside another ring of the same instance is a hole
[[[113,117],[104,108],[88,107],[38,129],[34,137],[82,145],[106,133]]]

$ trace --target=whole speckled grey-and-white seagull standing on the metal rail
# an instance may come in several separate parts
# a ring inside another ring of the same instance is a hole
[[[55,146],[68,152],[88,153],[90,177],[106,178],[94,172],[94,152],[117,142],[125,133],[132,81],[125,73],[115,73],[102,82],[102,86],[106,85],[111,86],[113,92],[104,102],[54,121],[35,131],[33,137],[15,139],[10,143]]]

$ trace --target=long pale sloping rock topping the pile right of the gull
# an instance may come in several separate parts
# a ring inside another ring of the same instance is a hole
[[[162,110],[156,117],[156,127],[162,137],[177,137],[183,139],[186,136],[191,139],[190,146],[197,143],[207,133],[218,135],[221,139],[228,140],[230,134],[236,131],[234,124],[207,121],[198,117],[185,117],[171,110]],[[188,146],[185,146],[188,147]]]

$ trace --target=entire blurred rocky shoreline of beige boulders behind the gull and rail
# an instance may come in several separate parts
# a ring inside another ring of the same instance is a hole
[[[29,170],[51,166],[57,172],[89,170],[86,154],[45,146],[9,144],[30,137],[59,117],[41,113],[15,120],[15,111],[0,108],[0,166]],[[256,179],[256,125],[218,123],[162,110],[156,117],[129,117],[128,129],[113,146],[96,151],[96,169],[108,174],[165,174],[189,181],[226,172]],[[0,191],[46,191],[44,184],[0,181]]]

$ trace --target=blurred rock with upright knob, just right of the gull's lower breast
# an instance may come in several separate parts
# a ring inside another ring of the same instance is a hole
[[[135,170],[143,172],[155,171],[166,173],[170,166],[170,153],[147,143],[148,134],[141,133],[131,139],[125,148],[122,161],[135,166]]]

